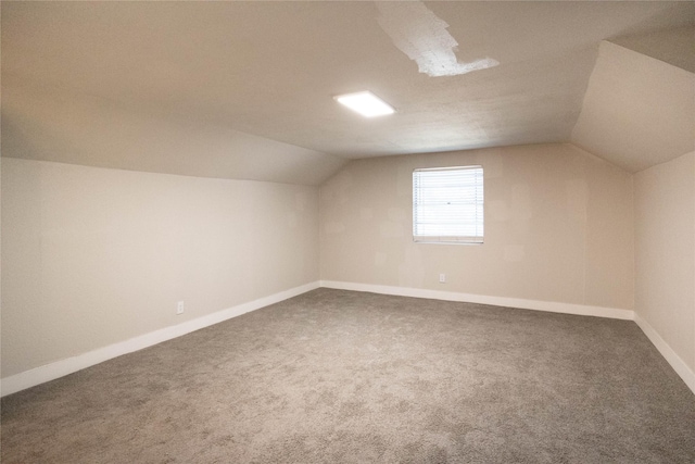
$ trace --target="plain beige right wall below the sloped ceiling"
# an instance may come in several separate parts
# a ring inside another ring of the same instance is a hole
[[[695,152],[635,174],[635,312],[695,372]]]

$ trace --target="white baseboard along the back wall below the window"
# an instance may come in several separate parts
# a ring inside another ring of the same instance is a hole
[[[321,280],[321,287],[336,288],[340,290],[370,291],[372,293],[396,294],[400,297],[429,298],[431,300],[492,304],[495,306],[520,308],[522,310],[547,311],[551,313],[610,317],[614,319],[632,321],[634,318],[634,311],[632,310],[587,306],[584,304],[559,303],[556,301],[525,300],[521,298],[507,297],[489,297],[484,294],[458,293],[454,291],[427,290],[421,288],[408,287],[390,287],[384,285],[356,284],[334,280]]]

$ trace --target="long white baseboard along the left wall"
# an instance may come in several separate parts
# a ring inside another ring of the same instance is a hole
[[[191,331],[220,323],[223,321],[240,316],[244,313],[265,308],[269,304],[278,303],[280,301],[287,300],[288,298],[296,297],[298,294],[315,290],[318,287],[319,283],[313,281],[300,287],[294,287],[289,290],[283,290],[278,293],[270,294],[268,297],[260,298],[248,303],[242,303],[232,308],[228,308],[226,310],[217,311],[206,316],[187,321],[175,326],[164,327],[159,330],[131,338],[129,340],[119,341],[108,347],[98,348],[97,350],[88,351],[73,358],[56,361],[51,364],[12,375],[0,380],[0,390],[2,392],[1,394],[2,397],[4,397],[7,394],[11,394],[26,388],[43,384],[46,381],[54,380],[86,367],[93,366],[94,364],[109,361],[113,358],[142,350],[143,348],[152,347],[153,344],[157,344],[163,341],[189,334]]]

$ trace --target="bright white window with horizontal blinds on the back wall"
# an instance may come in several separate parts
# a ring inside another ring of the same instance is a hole
[[[482,166],[413,171],[413,239],[482,243]]]

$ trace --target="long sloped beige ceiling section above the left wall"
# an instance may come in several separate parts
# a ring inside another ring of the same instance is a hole
[[[5,156],[312,186],[345,163],[231,127],[79,91],[27,83],[2,87]]]

